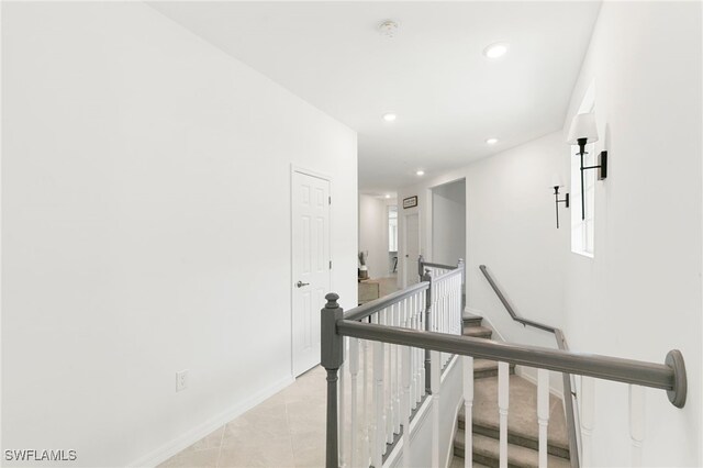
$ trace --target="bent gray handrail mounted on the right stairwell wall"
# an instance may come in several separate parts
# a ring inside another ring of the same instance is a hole
[[[488,272],[488,268],[486,265],[480,265],[479,269],[488,280],[488,283],[491,285],[493,292],[498,296],[498,299],[502,302],[503,307],[510,314],[510,316],[517,323],[522,323],[524,326],[532,326],[534,328],[544,330],[545,332],[549,332],[554,334],[555,339],[557,341],[557,347],[562,350],[569,350],[569,346],[567,345],[566,337],[563,336],[563,332],[560,328],[556,328],[554,326],[545,325],[543,323],[533,322],[531,320],[522,319],[515,313],[515,310],[507,301],[503,292],[500,290],[491,275]],[[571,381],[571,375],[562,374],[561,380],[563,385],[563,405],[565,405],[565,414],[567,420],[567,432],[569,438],[569,457],[571,460],[571,468],[579,468],[579,442],[577,436],[576,428],[576,405],[573,404],[573,400],[576,399],[576,392],[573,391],[573,382]]]

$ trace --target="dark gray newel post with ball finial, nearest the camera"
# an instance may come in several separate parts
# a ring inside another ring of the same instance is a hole
[[[344,337],[337,334],[337,321],[344,317],[344,310],[337,303],[338,294],[325,296],[327,303],[322,309],[321,356],[322,367],[327,370],[327,444],[325,466],[337,468],[339,461],[339,433],[337,427],[337,371],[344,363]]]

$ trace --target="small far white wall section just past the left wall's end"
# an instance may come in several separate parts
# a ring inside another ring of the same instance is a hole
[[[370,278],[388,276],[388,205],[384,199],[359,196],[359,252],[368,254]]]

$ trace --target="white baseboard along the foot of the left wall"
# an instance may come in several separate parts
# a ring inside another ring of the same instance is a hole
[[[291,385],[295,379],[292,376],[288,376],[272,386],[253,394],[250,398],[235,404],[234,406],[223,411],[216,416],[210,419],[209,421],[193,427],[192,430],[179,435],[175,439],[161,445],[157,449],[150,452],[146,456],[129,464],[129,467],[155,467],[185,448],[191,446],[196,442],[200,441],[208,434],[212,433],[214,430],[222,427],[230,421],[235,417],[244,414],[249,411],[252,408],[256,406],[264,400],[272,397],[278,393],[289,385]]]

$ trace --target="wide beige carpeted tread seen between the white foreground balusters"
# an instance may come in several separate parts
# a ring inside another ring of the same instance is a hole
[[[473,432],[498,438],[498,377],[473,381]],[[459,411],[459,427],[465,426],[464,408]],[[509,441],[536,448],[539,441],[537,424],[537,386],[520,376],[510,376],[507,412]],[[569,439],[562,402],[549,395],[549,425],[547,426],[549,452],[568,456]]]

